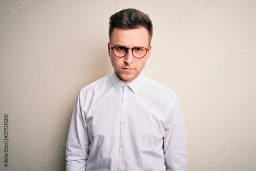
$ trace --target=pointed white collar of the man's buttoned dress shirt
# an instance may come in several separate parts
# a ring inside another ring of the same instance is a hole
[[[143,71],[141,71],[140,75],[135,80],[127,84],[125,84],[118,78],[115,71],[111,75],[111,81],[116,91],[118,91],[119,88],[123,87],[124,85],[127,85],[133,90],[134,93],[137,93],[140,87],[143,85],[144,80],[145,80],[145,75]]]

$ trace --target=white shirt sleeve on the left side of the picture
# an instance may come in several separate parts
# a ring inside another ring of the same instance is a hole
[[[89,155],[90,141],[79,94],[75,103],[66,147],[66,171],[85,171]]]

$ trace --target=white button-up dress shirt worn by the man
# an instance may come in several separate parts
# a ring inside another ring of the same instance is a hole
[[[83,87],[73,109],[67,171],[187,170],[182,109],[172,90],[115,72]]]

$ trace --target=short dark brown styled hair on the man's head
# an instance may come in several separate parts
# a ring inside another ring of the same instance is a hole
[[[123,9],[115,14],[111,15],[109,22],[109,37],[111,41],[111,34],[114,28],[121,29],[136,29],[139,27],[144,27],[148,31],[150,36],[150,43],[153,36],[153,25],[150,17],[141,12],[140,10],[129,8]]]

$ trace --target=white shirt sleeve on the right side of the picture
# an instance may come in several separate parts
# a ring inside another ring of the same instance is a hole
[[[164,135],[164,162],[168,171],[187,170],[187,145],[183,112],[177,96],[172,100]]]

